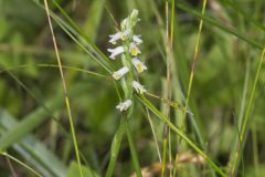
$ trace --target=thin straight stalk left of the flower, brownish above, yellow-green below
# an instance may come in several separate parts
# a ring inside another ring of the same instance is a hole
[[[73,136],[75,155],[76,155],[76,159],[77,159],[77,164],[78,164],[80,175],[81,175],[81,177],[83,177],[81,158],[80,158],[80,150],[78,150],[77,139],[76,139],[76,135],[75,135],[75,128],[74,128],[74,123],[73,123],[73,117],[72,117],[71,106],[70,106],[70,100],[68,100],[68,95],[67,95],[67,88],[66,88],[65,77],[64,77],[63,67],[62,67],[62,63],[61,63],[61,58],[60,58],[60,54],[59,54],[57,42],[56,42],[54,32],[53,32],[51,14],[50,14],[49,6],[47,6],[47,0],[44,0],[44,4],[45,4],[45,11],[46,11],[46,17],[47,17],[47,21],[49,21],[50,31],[51,31],[52,39],[53,39],[53,45],[54,45],[54,50],[55,50],[55,54],[56,54],[56,59],[57,59],[59,70],[60,70],[60,74],[61,74],[61,79],[62,79],[62,83],[63,83],[64,98],[65,98],[65,104],[66,104],[66,108],[67,108],[68,121],[70,121],[70,125],[71,125],[71,132],[72,132],[72,136]]]

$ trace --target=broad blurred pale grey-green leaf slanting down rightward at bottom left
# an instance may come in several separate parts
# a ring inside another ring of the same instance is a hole
[[[0,125],[3,127],[3,129],[0,129],[0,133],[3,136],[7,134],[7,131],[19,124],[14,117],[1,108],[0,117]],[[64,164],[34,136],[26,135],[21,139],[20,144],[15,143],[12,147],[38,168],[43,176],[65,176],[66,167]]]

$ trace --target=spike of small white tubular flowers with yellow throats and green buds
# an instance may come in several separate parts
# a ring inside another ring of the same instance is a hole
[[[108,52],[110,52],[109,58],[112,60],[116,60],[116,58],[120,56],[124,64],[121,69],[113,73],[113,77],[115,80],[120,80],[121,77],[125,77],[126,80],[126,74],[128,73],[132,73],[134,75],[134,67],[136,73],[141,73],[147,70],[145,63],[139,59],[139,54],[141,53],[139,45],[142,43],[141,37],[134,34],[134,27],[138,21],[138,10],[132,10],[131,14],[121,21],[120,31],[109,35],[109,42],[112,44],[116,45],[120,43],[120,45],[114,49],[108,49]],[[144,94],[147,92],[146,88],[135,80],[126,80],[125,83],[128,86],[134,87],[138,94]],[[127,96],[125,102],[119,103],[116,108],[123,112],[128,110],[131,104],[131,98]]]

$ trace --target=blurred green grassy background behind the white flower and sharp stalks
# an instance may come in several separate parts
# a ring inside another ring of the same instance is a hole
[[[132,9],[138,9],[141,21],[136,32],[142,37],[141,59],[148,65],[141,80],[150,93],[165,97],[165,1],[57,0],[57,3],[106,55],[109,54],[107,48],[110,48],[108,35],[115,33],[113,18],[119,23]],[[74,177],[78,168],[62,80],[59,69],[54,66],[57,63],[42,4],[43,1],[38,0],[0,0],[0,143],[4,144],[9,154],[43,176]],[[170,8],[171,4],[169,0]],[[49,1],[49,6],[53,13],[65,20],[52,1]],[[201,1],[195,0],[176,1],[172,100],[182,105],[201,6]],[[171,12],[170,10],[170,15]],[[229,166],[232,145],[239,134],[240,119],[245,114],[264,45],[264,12],[263,0],[208,1],[190,108],[201,129],[206,154],[224,169]],[[118,103],[115,86],[108,77],[74,70],[108,74],[55,21],[53,25],[62,63],[71,66],[65,67],[64,73],[84,168],[104,176],[110,144],[121,118],[115,108]],[[258,177],[265,173],[264,71],[262,66],[239,176]],[[165,104],[159,100],[150,100],[158,108],[163,110]],[[177,110],[172,114],[178,124],[181,112]],[[158,144],[162,147],[163,124],[155,116],[153,124]],[[150,125],[138,102],[130,118],[130,127],[141,167],[149,167],[152,176],[158,175],[152,167],[159,162]],[[199,145],[190,118],[187,127],[187,135]],[[177,150],[176,146],[172,148],[172,152]],[[191,150],[186,147],[183,153]],[[205,165],[188,162],[183,165],[180,163],[178,168],[179,176],[211,176]],[[34,176],[26,168],[0,156],[0,176],[12,174]],[[134,174],[125,139],[114,174]]]

